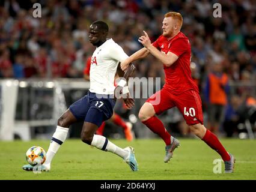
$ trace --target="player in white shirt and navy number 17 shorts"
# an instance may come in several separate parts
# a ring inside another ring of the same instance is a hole
[[[112,116],[116,100],[114,92],[118,92],[121,95],[129,95],[127,86],[125,87],[126,80],[120,80],[117,88],[114,86],[114,76],[118,64],[123,62],[128,56],[112,38],[107,38],[107,36],[108,25],[105,22],[97,20],[91,24],[89,40],[91,44],[97,47],[91,58],[90,89],[87,95],[73,103],[58,119],[56,131],[53,133],[46,154],[46,161],[41,166],[37,166],[37,170],[50,170],[52,158],[66,140],[69,126],[77,121],[84,121],[81,133],[82,142],[97,149],[117,154],[129,164],[132,171],[138,170],[138,164],[132,147],[129,146],[122,149],[110,142],[106,137],[95,134],[102,122]],[[124,74],[124,79],[127,79],[133,70],[133,65],[130,65]],[[134,100],[132,98],[126,97],[123,99],[127,107],[133,107]],[[24,170],[33,170],[33,166],[29,164],[22,168]]]

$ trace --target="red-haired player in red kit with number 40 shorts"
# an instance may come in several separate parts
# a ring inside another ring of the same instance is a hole
[[[190,71],[191,47],[189,39],[180,31],[182,22],[180,13],[166,13],[162,22],[163,34],[151,44],[147,32],[144,31],[138,40],[144,48],[123,61],[121,69],[126,70],[131,62],[145,58],[149,53],[163,63],[165,85],[143,104],[139,111],[139,119],[165,142],[165,163],[170,160],[180,142],[166,131],[156,115],[176,106],[189,125],[190,131],[221,155],[225,162],[225,173],[232,173],[234,156],[228,153],[218,137],[203,125],[201,98]],[[159,102],[156,102],[158,99]]]

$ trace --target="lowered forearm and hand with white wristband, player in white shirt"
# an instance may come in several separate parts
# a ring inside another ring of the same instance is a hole
[[[118,76],[123,77],[120,82],[118,82],[117,87],[115,88],[115,98],[123,98],[124,104],[126,104],[128,109],[131,109],[134,106],[134,100],[130,97],[129,89],[127,86],[128,78],[135,70],[135,65],[129,64],[129,67],[124,72],[121,70],[120,65],[118,65],[117,73]]]

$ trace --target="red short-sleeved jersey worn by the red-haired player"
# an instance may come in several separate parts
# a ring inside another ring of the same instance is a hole
[[[172,52],[178,56],[177,61],[170,67],[163,65],[165,71],[164,87],[174,95],[179,95],[189,89],[194,89],[199,92],[197,85],[191,77],[191,46],[186,35],[179,32],[171,40],[160,35],[160,37],[154,41],[153,46],[165,54]]]

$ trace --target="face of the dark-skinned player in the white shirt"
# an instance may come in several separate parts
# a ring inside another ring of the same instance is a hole
[[[91,25],[89,29],[89,41],[94,46],[100,46],[106,41],[107,33],[99,29],[97,25]]]

